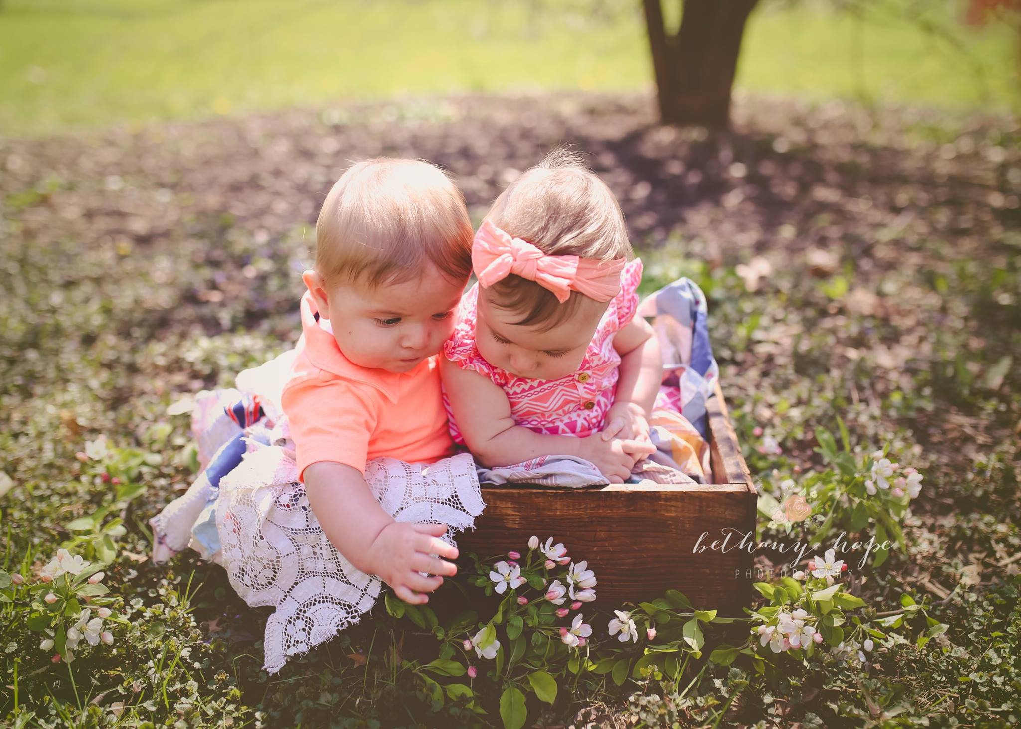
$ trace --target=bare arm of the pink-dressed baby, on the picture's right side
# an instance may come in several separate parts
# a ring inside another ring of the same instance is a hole
[[[648,418],[663,382],[660,342],[648,322],[635,317],[614,337],[614,348],[621,366],[602,437],[647,441]]]

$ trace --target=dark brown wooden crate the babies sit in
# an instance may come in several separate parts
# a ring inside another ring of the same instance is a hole
[[[595,571],[596,604],[603,609],[677,589],[696,608],[743,616],[752,555],[736,544],[748,531],[748,539],[755,537],[757,493],[719,385],[709,400],[709,426],[712,484],[483,487],[486,509],[457,544],[488,556],[523,550],[532,534],[553,536]],[[703,532],[701,544],[712,544],[728,529],[733,530],[729,551],[692,553]]]

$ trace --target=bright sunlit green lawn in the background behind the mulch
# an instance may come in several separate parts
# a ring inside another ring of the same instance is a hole
[[[877,0],[859,23],[825,4],[764,0],[738,84],[812,97],[1016,103],[1006,29],[964,30],[944,4],[929,3],[938,7],[927,14],[963,44],[955,50],[906,20],[898,10],[907,2]],[[606,8],[601,18],[591,17],[597,5]],[[637,3],[624,0],[7,0],[0,7],[0,133],[13,136],[341,98],[651,83]]]

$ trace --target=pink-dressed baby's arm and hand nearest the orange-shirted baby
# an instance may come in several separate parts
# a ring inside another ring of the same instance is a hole
[[[639,443],[621,440],[534,433],[515,424],[506,395],[488,378],[442,356],[440,375],[465,443],[483,466],[508,466],[540,455],[577,455],[595,464],[611,481],[622,483],[635,461],[626,448],[651,452],[651,446],[646,450]]]

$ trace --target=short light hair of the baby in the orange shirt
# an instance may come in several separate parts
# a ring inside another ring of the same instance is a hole
[[[340,177],[315,222],[315,271],[375,287],[407,281],[433,263],[451,279],[472,273],[465,196],[435,164],[375,157]]]

